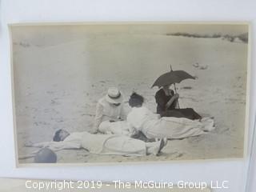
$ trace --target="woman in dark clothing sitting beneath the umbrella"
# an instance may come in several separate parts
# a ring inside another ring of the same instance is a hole
[[[175,117],[175,118],[202,118],[192,108],[179,109],[178,108],[178,94],[174,94],[174,90],[170,89],[170,85],[162,86],[154,96],[157,102],[157,114],[161,117]]]

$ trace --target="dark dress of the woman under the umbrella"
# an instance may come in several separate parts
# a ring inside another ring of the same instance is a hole
[[[192,120],[202,118],[192,108],[175,109],[177,100],[175,100],[166,110],[166,104],[173,96],[174,90],[171,90],[170,95],[166,95],[166,92],[163,89],[158,90],[158,92],[154,96],[155,101],[158,104],[157,114],[160,114],[161,117],[190,118]]]

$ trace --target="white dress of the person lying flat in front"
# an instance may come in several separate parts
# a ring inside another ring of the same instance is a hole
[[[84,148],[91,154],[146,155],[146,143],[138,139],[115,134],[90,134],[86,131],[74,132],[62,142],[42,142],[35,146],[49,147],[54,151]]]

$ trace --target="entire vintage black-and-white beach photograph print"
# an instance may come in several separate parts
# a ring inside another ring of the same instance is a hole
[[[243,158],[248,23],[11,25],[18,165]]]

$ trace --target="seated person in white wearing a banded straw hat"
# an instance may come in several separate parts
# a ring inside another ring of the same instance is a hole
[[[106,132],[110,122],[118,122],[117,130],[126,130],[126,123],[122,125],[122,120],[126,119],[127,112],[123,106],[123,95],[116,87],[110,87],[105,97],[98,100],[96,114],[94,118],[94,132],[98,130]],[[120,125],[119,125],[120,124]],[[120,133],[122,134],[122,133]],[[123,133],[127,134],[127,133]]]

